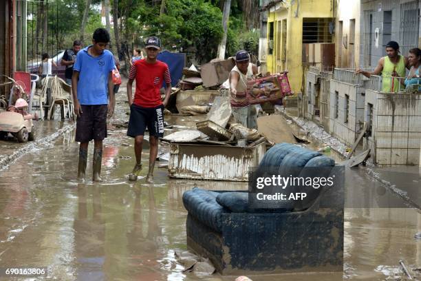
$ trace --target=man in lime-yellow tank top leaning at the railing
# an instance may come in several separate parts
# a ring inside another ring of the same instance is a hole
[[[358,69],[356,73],[363,74],[367,78],[371,75],[382,74],[382,91],[398,92],[399,83],[404,83],[401,79],[395,77],[405,76],[405,67],[409,69],[408,59],[399,54],[399,44],[395,41],[389,41],[386,45],[386,54],[378,60],[377,66],[373,72]]]

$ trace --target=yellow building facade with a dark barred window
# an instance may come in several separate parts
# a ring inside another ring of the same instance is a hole
[[[268,10],[267,69],[272,73],[288,70],[295,93],[305,88],[303,46],[334,41],[335,9],[336,1],[285,0]]]

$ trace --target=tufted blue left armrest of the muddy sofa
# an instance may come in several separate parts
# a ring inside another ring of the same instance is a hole
[[[215,191],[195,187],[184,192],[183,203],[188,214],[191,214],[211,229],[221,232],[221,215],[224,213],[224,207],[217,203],[217,195],[218,193]]]

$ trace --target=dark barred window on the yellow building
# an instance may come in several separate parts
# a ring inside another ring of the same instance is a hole
[[[303,18],[303,43],[332,43],[331,18]]]

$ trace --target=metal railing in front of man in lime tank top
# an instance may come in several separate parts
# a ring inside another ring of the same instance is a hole
[[[382,77],[379,75],[371,75],[368,88],[382,93],[421,93],[421,78],[411,79],[414,79],[416,83],[404,85],[405,77]],[[383,83],[385,81],[389,85],[389,89],[387,91],[383,90]]]

